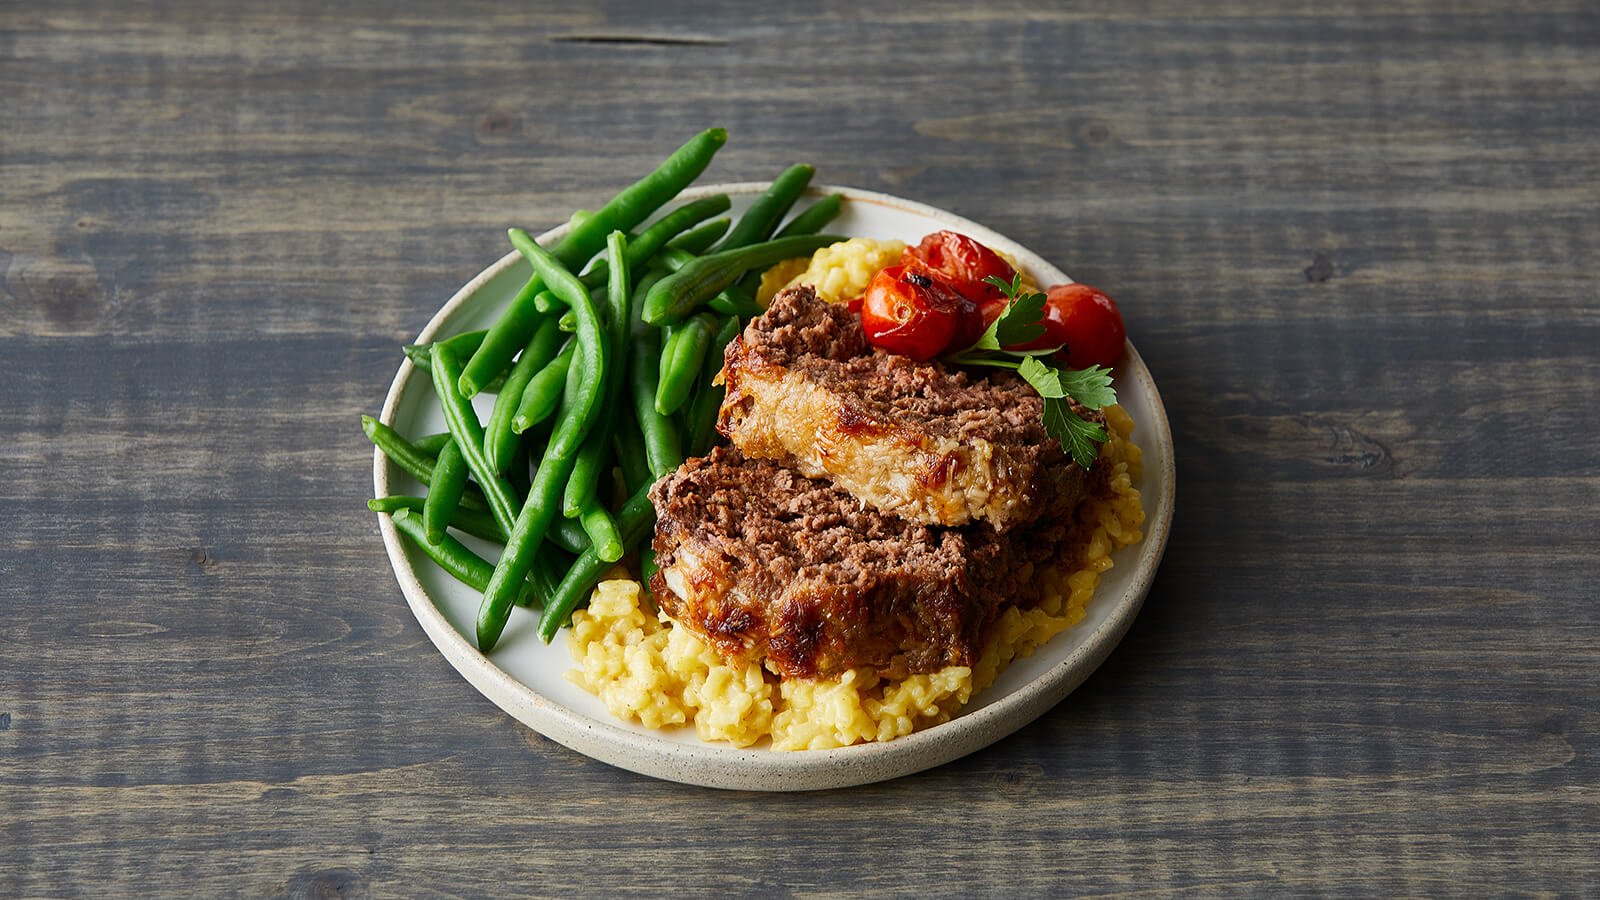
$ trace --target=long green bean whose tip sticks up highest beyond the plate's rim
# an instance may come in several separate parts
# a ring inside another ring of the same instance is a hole
[[[611,199],[592,216],[579,216],[566,231],[552,251],[555,259],[571,269],[582,266],[603,245],[605,237],[613,231],[627,231],[650,218],[658,207],[678,195],[680,191],[699,178],[701,171],[710,165],[710,157],[728,141],[728,133],[722,128],[710,128],[690,138],[686,144],[672,152],[654,171],[635,181]],[[520,231],[520,229],[518,229]],[[523,232],[526,237],[526,232]],[[533,243],[533,239],[528,239]],[[526,256],[526,253],[525,253]],[[477,392],[477,386],[488,381],[493,373],[510,365],[510,357],[528,343],[533,335],[523,315],[522,304],[533,311],[533,298],[544,290],[544,279],[534,266],[534,277],[523,285],[512,304],[490,327],[488,336],[478,352],[472,354],[462,372],[461,392],[467,397]],[[555,285],[550,285],[555,287]],[[558,293],[558,291],[557,291]],[[482,357],[482,359],[480,359]]]

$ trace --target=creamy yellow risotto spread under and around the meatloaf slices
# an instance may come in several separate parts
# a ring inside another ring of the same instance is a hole
[[[770,269],[762,299],[800,282],[843,303],[864,291],[878,269],[898,263],[901,250],[901,242],[870,239],[835,243],[810,261]],[[1043,601],[1026,612],[1005,610],[990,626],[976,666],[901,681],[885,681],[870,669],[813,681],[779,679],[755,661],[730,666],[686,628],[658,615],[638,581],[619,567],[595,588],[589,609],[573,613],[568,649],[579,668],[566,677],[619,719],[651,729],[693,724],[701,740],[734,746],[771,740],[773,749],[826,749],[893,740],[944,722],[994,684],[1011,660],[1032,655],[1082,620],[1101,573],[1112,567],[1110,554],[1144,536],[1144,508],[1133,487],[1142,471],[1133,420],[1122,407],[1106,407],[1106,423],[1109,440],[1101,456],[1110,474],[1104,490],[1078,508],[1075,557],[1038,572]]]

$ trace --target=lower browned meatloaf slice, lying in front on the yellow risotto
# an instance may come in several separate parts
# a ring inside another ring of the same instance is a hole
[[[1067,544],[1059,522],[1013,540],[883,516],[730,447],[690,460],[650,498],[656,604],[723,658],[765,658],[786,677],[971,665],[984,626],[1006,605],[1035,605],[1034,565]]]

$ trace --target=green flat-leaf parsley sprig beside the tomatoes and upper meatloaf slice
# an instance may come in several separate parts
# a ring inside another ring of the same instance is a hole
[[[1099,453],[1096,444],[1106,442],[1106,428],[1072,412],[1069,399],[1090,410],[1115,404],[1117,391],[1110,386],[1110,370],[1099,365],[1059,368],[1045,362],[1064,344],[1032,351],[1005,349],[1035,341],[1045,333],[1040,322],[1045,317],[1046,296],[1040,291],[1024,293],[1021,272],[1011,277],[1011,283],[994,275],[984,280],[1005,291],[1005,312],[989,323],[973,346],[946,354],[944,362],[1010,368],[1021,375],[1045,399],[1045,432],[1059,440],[1061,448],[1080,466],[1085,469],[1093,466]]]

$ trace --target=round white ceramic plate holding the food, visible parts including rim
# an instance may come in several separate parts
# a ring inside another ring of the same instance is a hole
[[[765,187],[717,184],[686,191],[683,199],[726,192],[738,215]],[[1042,285],[1070,280],[1018,243],[933,207],[850,187],[822,186],[810,194],[816,199],[834,191],[846,202],[829,232],[915,243],[928,232],[954,229],[1011,253]],[[539,242],[550,243],[565,232],[565,226],[557,227]],[[456,291],[418,343],[486,328],[530,274],[515,251],[507,253]],[[400,365],[381,418],[408,436],[443,431],[432,384],[426,373],[416,375],[410,362]],[[1138,484],[1147,516],[1144,541],[1114,556],[1115,567],[1104,575],[1083,621],[1034,657],[1013,663],[955,719],[886,743],[789,753],[762,746],[736,749],[699,741],[693,727],[659,732],[621,722],[595,697],[563,677],[573,668],[565,633],[550,645],[541,644],[534,634],[538,615],[530,610],[514,610],[491,655],[478,653],[472,637],[478,594],[438,570],[395,532],[387,516],[379,516],[378,524],[400,589],[434,645],[496,706],[536,732],[602,762],[691,785],[757,791],[864,785],[949,762],[1021,729],[1082,684],[1128,631],[1166,548],[1173,516],[1173,444],[1155,383],[1131,343],[1117,365],[1115,386],[1120,404],[1138,426],[1133,437],[1144,448],[1144,477]],[[480,416],[486,418],[493,397],[475,402]],[[376,496],[421,493],[421,487],[381,453],[373,458],[373,485]],[[466,541],[488,559],[498,552],[472,538]]]

